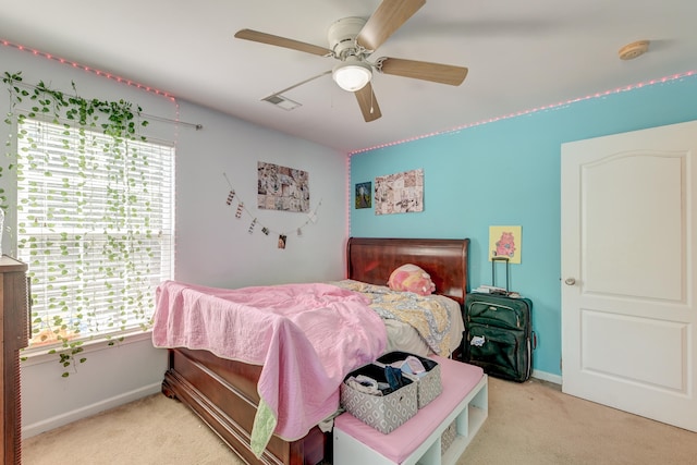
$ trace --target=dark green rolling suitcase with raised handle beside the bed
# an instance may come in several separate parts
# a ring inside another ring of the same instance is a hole
[[[523,382],[533,369],[533,302],[509,291],[505,257],[493,257],[492,284],[497,261],[505,261],[505,291],[475,292],[465,298],[463,362],[480,366],[487,375]]]

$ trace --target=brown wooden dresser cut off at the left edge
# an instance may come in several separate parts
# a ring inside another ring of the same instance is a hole
[[[5,465],[22,463],[20,348],[28,341],[27,266],[0,257],[0,457]]]

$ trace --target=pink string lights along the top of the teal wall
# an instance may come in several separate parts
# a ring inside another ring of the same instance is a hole
[[[632,84],[632,85],[624,86],[624,87],[617,87],[614,90],[606,90],[603,93],[596,93],[596,94],[587,95],[586,97],[577,97],[577,98],[568,99],[568,100],[565,100],[565,101],[560,101],[558,103],[547,105],[547,106],[543,106],[543,107],[536,107],[536,108],[528,109],[528,110],[522,110],[522,111],[517,111],[517,112],[514,112],[514,113],[509,113],[509,114],[505,114],[505,115],[502,115],[502,117],[494,117],[494,118],[490,118],[488,120],[477,121],[475,123],[467,123],[467,124],[463,124],[461,126],[452,127],[450,130],[435,131],[435,132],[428,133],[428,134],[423,134],[423,135],[408,137],[408,138],[404,138],[404,139],[400,139],[400,140],[394,140],[394,142],[389,142],[389,143],[384,143],[384,144],[378,144],[378,145],[374,145],[372,147],[366,147],[366,148],[362,148],[362,149],[358,149],[358,150],[352,150],[347,155],[348,155],[348,158],[351,158],[351,156],[356,155],[356,154],[363,154],[363,152],[366,152],[366,151],[377,150],[377,149],[380,149],[380,148],[392,147],[392,146],[395,146],[395,145],[406,144],[408,142],[419,140],[419,139],[424,139],[424,138],[427,138],[427,137],[433,137],[433,136],[438,136],[438,135],[454,133],[454,132],[457,132],[457,131],[466,130],[468,127],[480,126],[482,124],[493,123],[496,121],[508,120],[508,119],[516,118],[516,117],[523,117],[523,115],[526,115],[526,114],[537,113],[539,111],[552,110],[554,108],[564,107],[564,106],[567,106],[567,105],[571,105],[571,103],[576,103],[578,101],[590,100],[590,99],[599,98],[599,97],[606,97],[606,96],[609,96],[611,94],[620,94],[620,93],[623,93],[623,91],[637,89],[637,88],[640,88],[640,87],[644,87],[644,86],[651,86],[651,85],[659,84],[659,83],[663,84],[663,83],[667,83],[669,81],[681,79],[683,77],[693,76],[695,74],[697,74],[697,70],[687,71],[685,73],[673,74],[671,76],[664,76],[664,77],[661,77],[659,79],[651,79],[651,81],[647,81],[647,82],[643,82],[643,83]]]

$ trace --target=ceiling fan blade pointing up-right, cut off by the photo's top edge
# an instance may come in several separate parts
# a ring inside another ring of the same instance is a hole
[[[356,42],[366,50],[377,50],[425,3],[426,0],[382,0],[358,33]]]

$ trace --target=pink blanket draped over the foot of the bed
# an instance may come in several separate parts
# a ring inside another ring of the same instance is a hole
[[[272,432],[293,441],[331,415],[344,376],[383,353],[384,325],[368,304],[330,284],[224,290],[166,281],[152,343],[264,366],[252,433],[258,455]]]

